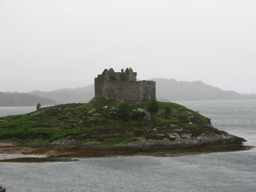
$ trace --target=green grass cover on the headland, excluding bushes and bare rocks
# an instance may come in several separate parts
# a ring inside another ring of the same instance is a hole
[[[131,104],[132,109],[138,108],[147,109],[150,101],[136,103],[127,101]],[[185,108],[185,106],[176,103],[158,102],[159,112],[151,120],[144,120],[144,115],[137,111],[132,111],[130,119],[123,119],[118,113],[118,109],[102,109],[102,106],[117,106],[119,101],[105,100],[103,98],[94,99],[89,103],[68,103],[41,108],[35,112],[25,115],[14,115],[1,117],[0,120],[0,139],[9,140],[27,140],[28,145],[36,145],[42,141],[55,141],[66,136],[77,136],[86,134],[86,139],[93,138],[95,134],[110,134],[110,133],[129,133],[133,132],[133,137],[155,137],[146,130],[148,127],[166,126],[166,129],[158,129],[156,133],[172,132],[177,127],[169,126],[170,124],[178,124],[183,127],[183,132],[188,132],[192,129],[193,134],[200,134],[202,131],[215,131],[205,125],[210,120],[197,112]],[[169,106],[172,111],[168,116],[164,115],[164,108]],[[90,110],[96,109],[97,114],[88,113]],[[193,131],[194,127],[188,124],[187,116],[184,113],[188,111],[197,115],[197,118],[190,119],[197,124],[197,130]],[[188,127],[188,128],[186,128]],[[200,128],[202,127],[202,129]],[[105,144],[115,144],[125,142],[130,136],[105,138],[102,142]],[[31,141],[30,141],[31,140]],[[86,142],[86,141],[84,141]],[[76,143],[74,145],[79,145]],[[74,146],[70,145],[70,146]]]

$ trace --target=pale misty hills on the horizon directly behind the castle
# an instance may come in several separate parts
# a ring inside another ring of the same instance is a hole
[[[156,97],[170,101],[184,100],[239,100],[256,99],[256,94],[243,95],[234,91],[223,91],[202,81],[177,81],[175,79],[150,79],[156,81]],[[94,85],[59,89],[50,92],[32,91],[30,94],[51,98],[58,103],[88,102],[94,97]]]

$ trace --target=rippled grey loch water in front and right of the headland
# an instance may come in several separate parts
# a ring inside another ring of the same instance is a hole
[[[219,130],[256,147],[256,100],[180,101]],[[2,108],[0,108],[2,110]],[[28,113],[28,112],[26,112]],[[0,185],[14,191],[256,191],[256,150],[179,157],[89,158],[0,163]]]

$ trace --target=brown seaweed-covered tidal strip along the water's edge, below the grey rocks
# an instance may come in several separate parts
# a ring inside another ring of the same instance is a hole
[[[10,144],[10,143],[8,143]],[[60,148],[60,147],[24,147],[0,143],[1,162],[70,162],[79,158],[104,158],[117,156],[150,155],[176,157],[200,155],[203,153],[247,151],[253,148],[234,143],[208,143],[194,146],[150,146],[150,147],[105,147],[105,148]]]

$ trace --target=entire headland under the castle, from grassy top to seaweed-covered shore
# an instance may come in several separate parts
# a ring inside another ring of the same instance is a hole
[[[47,155],[0,162],[73,161],[120,155],[176,156],[247,150],[240,137],[212,127],[185,106],[103,98],[0,118],[1,154]]]

